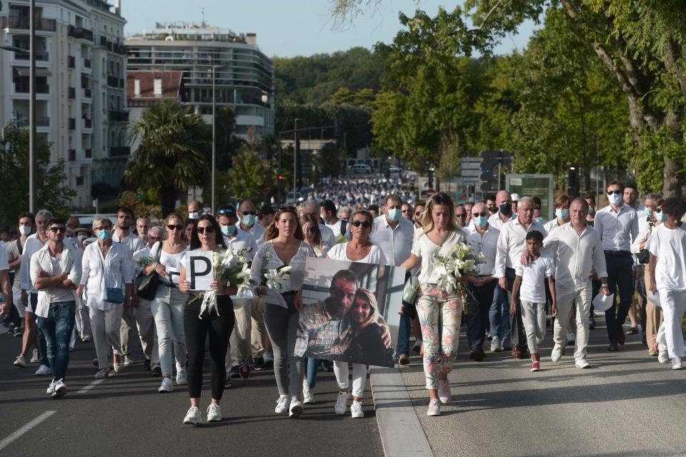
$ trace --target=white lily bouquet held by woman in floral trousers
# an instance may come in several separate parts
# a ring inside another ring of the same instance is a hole
[[[449,295],[459,292],[462,311],[467,314],[467,277],[477,276],[479,263],[485,263],[482,253],[475,254],[468,243],[457,243],[444,256],[434,256],[434,269],[441,276],[438,286]]]

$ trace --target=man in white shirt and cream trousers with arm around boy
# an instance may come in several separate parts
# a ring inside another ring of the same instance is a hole
[[[590,363],[586,361],[586,347],[593,288],[591,278],[594,274],[600,278],[600,291],[604,295],[610,295],[602,243],[597,231],[587,224],[587,213],[587,202],[584,199],[574,199],[570,205],[570,223],[553,230],[545,238],[542,251],[550,255],[557,265],[557,318],[553,330],[555,347],[552,349],[551,358],[557,362],[562,357],[562,347],[567,342],[567,323],[572,314],[575,314],[577,335],[574,356],[577,368],[590,367]]]

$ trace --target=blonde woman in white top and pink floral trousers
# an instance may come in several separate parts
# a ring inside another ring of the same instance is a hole
[[[401,266],[409,271],[422,265],[417,316],[422,326],[424,377],[429,389],[427,416],[440,416],[440,403],[448,403],[451,398],[448,373],[457,354],[462,301],[437,286],[440,276],[433,268],[433,260],[438,253],[444,255],[457,243],[464,243],[465,238],[457,225],[452,200],[442,192],[427,200],[422,227],[414,238],[412,254]]]

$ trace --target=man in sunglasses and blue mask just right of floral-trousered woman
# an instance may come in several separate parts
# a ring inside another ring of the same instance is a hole
[[[482,361],[484,358],[484,338],[489,329],[493,335],[491,351],[500,351],[500,342],[509,338],[509,311],[507,303],[499,306],[493,300],[497,281],[493,277],[495,256],[500,231],[488,224],[490,213],[486,205],[477,203],[472,206],[474,230],[467,230],[467,243],[474,253],[483,254],[485,263],[479,264],[479,276],[467,278],[467,343],[469,358]],[[476,302],[474,301],[476,298]],[[478,302],[478,303],[477,303]],[[489,325],[490,323],[490,325]]]

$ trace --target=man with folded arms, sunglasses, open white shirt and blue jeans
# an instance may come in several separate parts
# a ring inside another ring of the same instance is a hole
[[[76,321],[76,284],[81,266],[74,249],[64,245],[66,225],[51,219],[48,242],[31,256],[31,283],[38,291],[36,321],[46,340],[47,358],[54,377],[48,386],[53,398],[66,395],[69,340]]]

